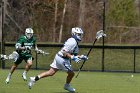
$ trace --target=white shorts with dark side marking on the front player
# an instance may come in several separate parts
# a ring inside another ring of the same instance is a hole
[[[69,59],[62,58],[56,54],[53,63],[50,65],[52,68],[61,69],[64,71],[72,71]]]

